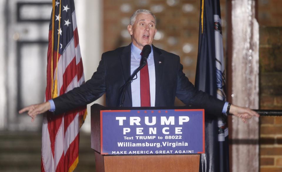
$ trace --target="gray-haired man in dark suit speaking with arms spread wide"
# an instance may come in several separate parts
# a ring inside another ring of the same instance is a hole
[[[183,74],[179,56],[152,45],[156,34],[156,18],[151,11],[135,11],[127,29],[132,43],[103,53],[97,71],[85,84],[53,100],[23,108],[19,113],[28,111],[33,121],[36,115],[45,111],[62,113],[91,103],[104,93],[106,106],[119,106],[124,84],[140,65],[141,50],[145,45],[150,45],[147,64],[129,85],[124,107],[173,106],[177,96],[186,105],[201,107],[213,114],[229,112],[241,117],[243,121],[258,116],[251,109],[231,105],[196,90]]]

